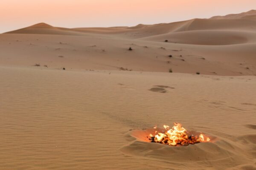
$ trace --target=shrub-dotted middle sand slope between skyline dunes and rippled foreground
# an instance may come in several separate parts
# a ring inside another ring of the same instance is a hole
[[[235,39],[237,43],[245,41],[239,36],[232,37],[233,33],[237,32],[229,33],[231,40]],[[153,37],[151,41],[127,40],[99,34],[1,34],[0,65],[32,66],[40,63],[41,66],[47,65],[49,68],[67,69],[119,70],[122,67],[133,71],[168,72],[169,68],[172,68],[174,72],[180,73],[199,71],[201,74],[217,75],[256,74],[255,43],[193,45],[216,42],[204,37],[198,40],[193,34],[189,34],[190,40],[182,37],[187,34],[189,32],[167,34],[164,38],[174,37],[180,42],[192,45],[160,42],[161,36]],[[211,36],[207,31],[197,34]],[[252,37],[244,32],[237,34],[252,40]],[[224,40],[221,43],[230,41]],[[134,50],[128,51],[129,47]]]

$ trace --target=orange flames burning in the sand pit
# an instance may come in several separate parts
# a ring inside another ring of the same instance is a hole
[[[190,135],[188,136],[188,131],[182,127],[180,123],[174,123],[172,129],[169,129],[169,126],[163,125],[166,131],[163,133],[155,131],[155,135],[150,134],[151,142],[161,143],[161,144],[169,144],[171,146],[186,146],[189,144],[196,144],[200,142],[209,142],[209,137],[204,134],[200,134],[199,136]],[[157,127],[154,127],[156,129]]]

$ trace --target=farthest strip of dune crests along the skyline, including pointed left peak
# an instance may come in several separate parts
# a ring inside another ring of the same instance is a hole
[[[248,15],[247,15],[248,14]],[[22,28],[15,31],[9,31],[8,34],[53,34],[49,30],[55,31],[70,31],[79,33],[95,33],[95,34],[137,34],[136,36],[152,36],[159,34],[166,34],[179,31],[195,31],[195,30],[247,30],[255,31],[256,20],[253,20],[254,15],[251,12],[244,13],[246,17],[228,17],[218,18],[212,17],[210,19],[193,19],[175,23],[161,23],[154,25],[139,24],[134,27],[110,27],[110,28],[61,28],[53,27],[46,23],[38,23],[33,26]],[[253,12],[256,15],[256,12]],[[61,32],[59,33],[61,34]],[[67,34],[67,33],[66,33]],[[140,35],[143,34],[143,35]],[[65,35],[65,34],[64,34]]]

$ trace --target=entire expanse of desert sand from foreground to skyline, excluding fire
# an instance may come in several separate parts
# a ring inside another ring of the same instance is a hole
[[[255,170],[255,28],[252,10],[0,34],[0,170]],[[146,141],[173,122],[211,141]]]

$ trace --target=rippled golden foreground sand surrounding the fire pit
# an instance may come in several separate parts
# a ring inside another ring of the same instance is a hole
[[[0,67],[0,77],[1,170],[256,168],[254,76]],[[213,143],[143,142],[143,129],[172,122]]]

